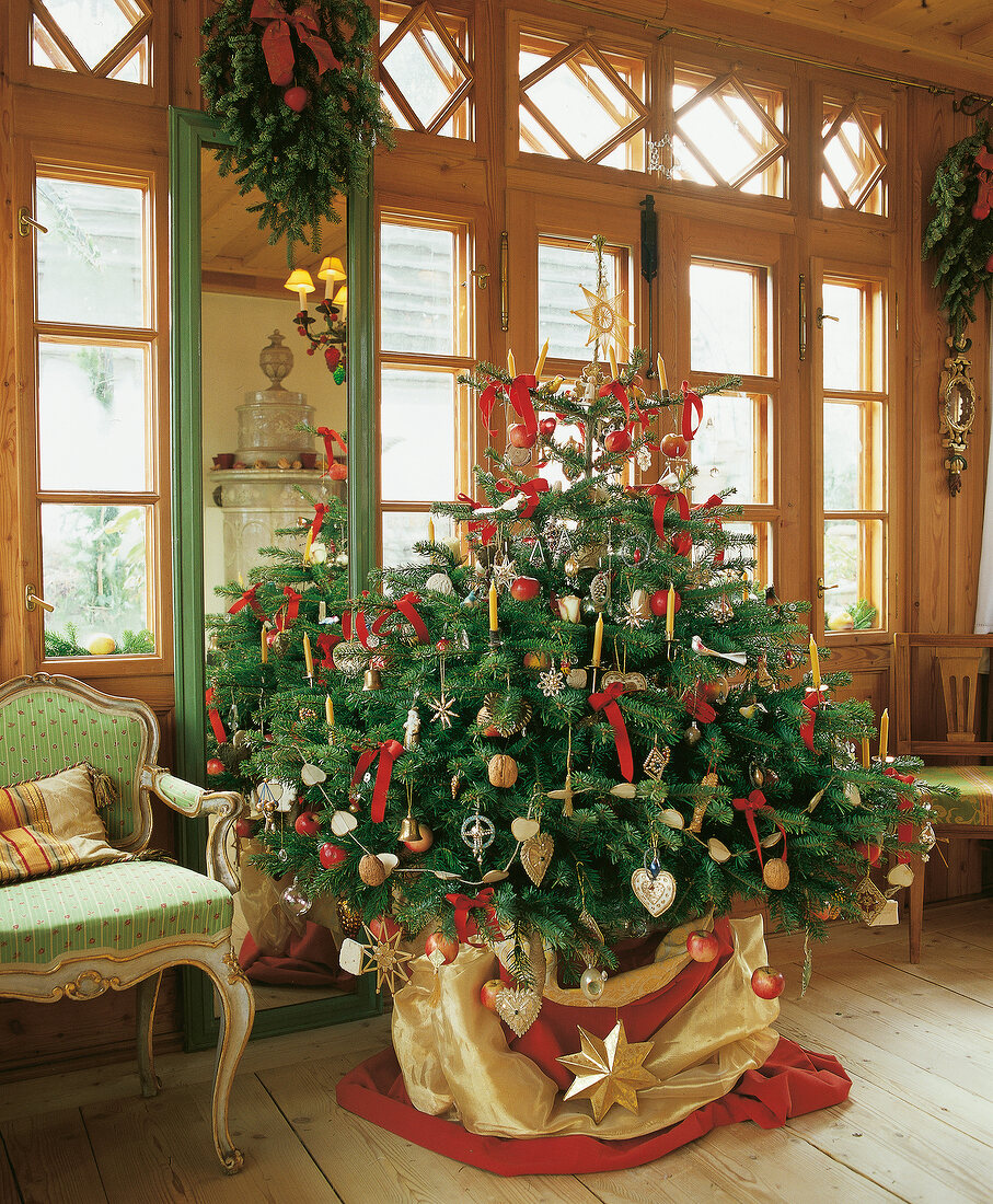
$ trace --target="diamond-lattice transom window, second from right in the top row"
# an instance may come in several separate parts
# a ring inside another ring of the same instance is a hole
[[[734,75],[716,79],[678,73],[673,87],[678,134],[674,179],[723,184],[764,196],[785,195],[784,98]]]

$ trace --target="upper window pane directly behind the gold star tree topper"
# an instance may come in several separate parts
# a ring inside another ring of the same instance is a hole
[[[620,254],[604,248],[607,288],[613,297],[623,287]],[[573,309],[589,306],[580,285],[597,288],[597,256],[589,244],[538,243],[538,331],[548,340],[548,353],[568,360],[592,359],[590,324]],[[630,317],[630,311],[625,309]]]

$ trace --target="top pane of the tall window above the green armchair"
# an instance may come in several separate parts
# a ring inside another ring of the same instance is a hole
[[[42,321],[144,326],[144,193],[39,176],[37,306]]]

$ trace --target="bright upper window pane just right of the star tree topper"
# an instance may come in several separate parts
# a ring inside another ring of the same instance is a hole
[[[690,366],[761,376],[766,368],[766,270],[735,264],[690,265]]]

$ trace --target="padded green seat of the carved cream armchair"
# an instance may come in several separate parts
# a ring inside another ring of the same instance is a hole
[[[234,907],[220,883],[161,861],[12,883],[0,887],[0,967],[212,940],[230,927]]]

